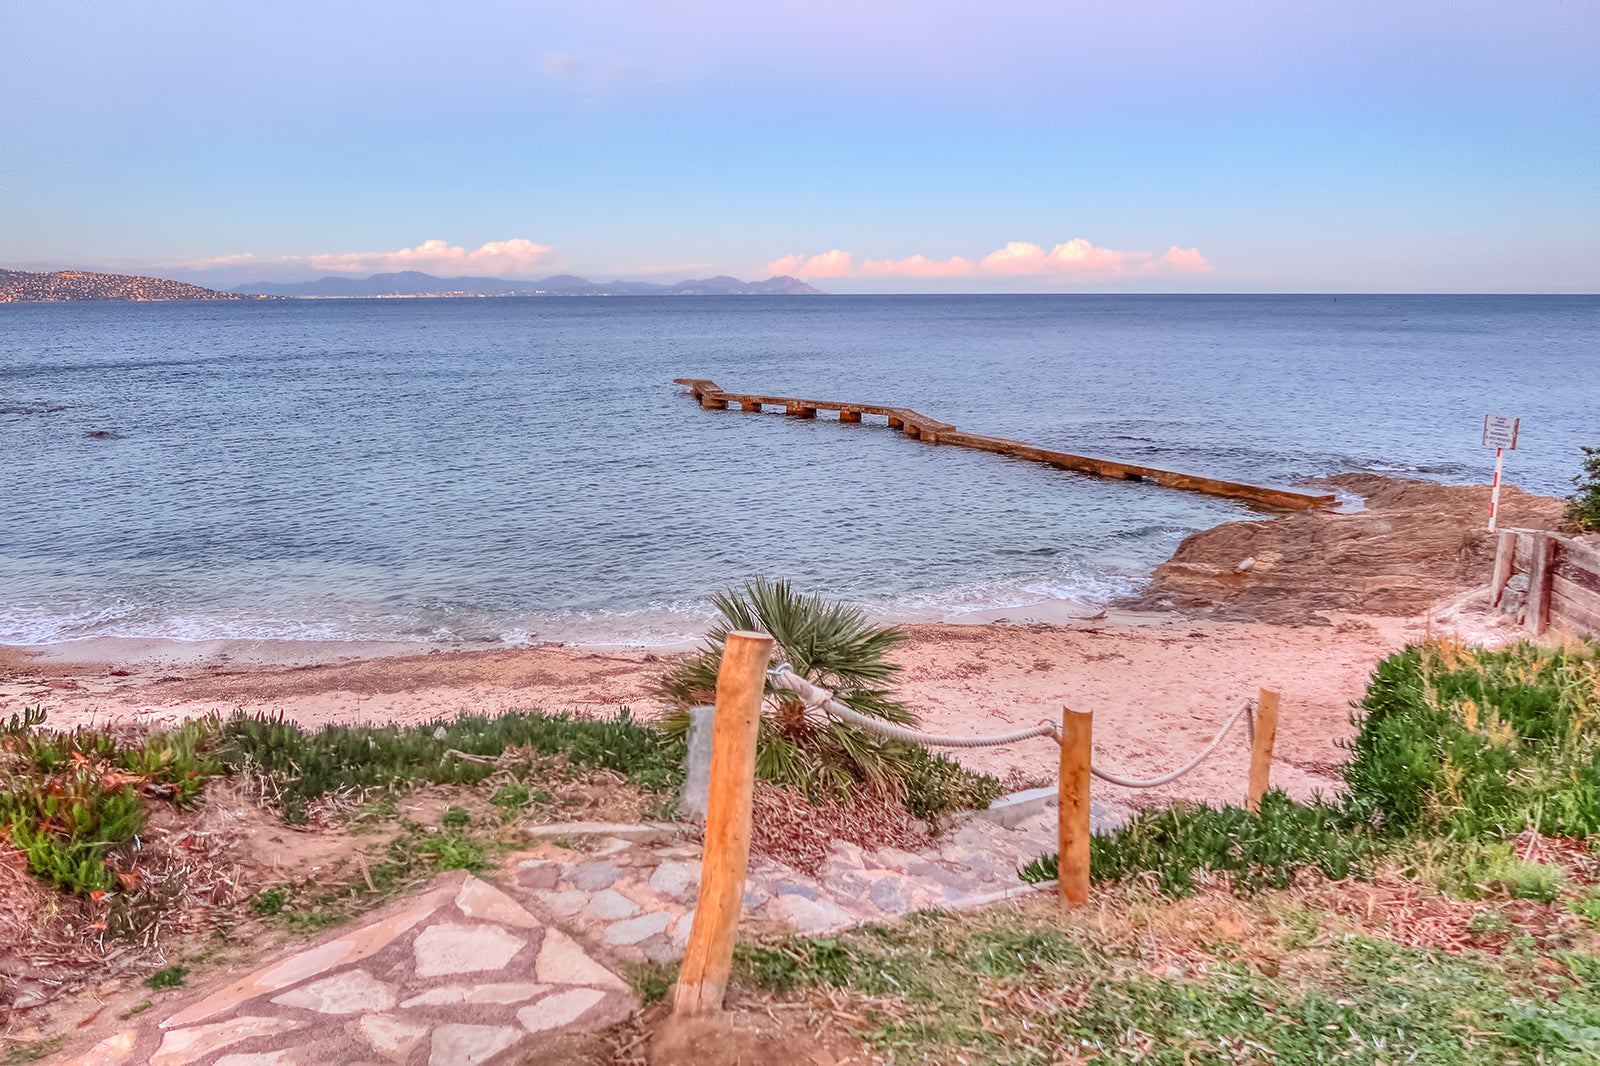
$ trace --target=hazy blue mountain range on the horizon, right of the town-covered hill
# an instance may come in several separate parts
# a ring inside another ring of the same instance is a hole
[[[707,277],[654,285],[651,282],[590,282],[557,274],[539,282],[502,277],[434,277],[421,271],[374,274],[371,277],[325,277],[315,282],[258,282],[240,285],[242,296],[299,296],[320,299],[362,299],[395,296],[811,296],[821,290],[800,279],[770,277],[741,282],[736,277]]]

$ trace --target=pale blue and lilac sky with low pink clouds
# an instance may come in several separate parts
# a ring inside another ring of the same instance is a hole
[[[0,0],[0,267],[1600,291],[1600,3]]]

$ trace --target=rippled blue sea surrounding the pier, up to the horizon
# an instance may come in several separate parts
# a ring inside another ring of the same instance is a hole
[[[1102,600],[1250,512],[672,378],[1278,485],[1488,480],[1493,410],[1509,479],[1565,493],[1597,362],[1565,296],[0,306],[0,642],[653,642],[750,575],[891,616]]]

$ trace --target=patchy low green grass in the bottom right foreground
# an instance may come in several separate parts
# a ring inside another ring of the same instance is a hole
[[[747,946],[736,975],[746,992],[784,999],[845,992],[866,1018],[859,1036],[890,1063],[1555,1066],[1600,1056],[1592,956],[1568,956],[1552,973],[1536,952],[1451,956],[1355,932],[1315,933],[1306,946],[1296,928],[1322,919],[1290,911],[1259,943],[1189,936],[1181,975],[1152,964],[1147,930],[1107,935],[1093,917],[1062,925],[1048,906]]]

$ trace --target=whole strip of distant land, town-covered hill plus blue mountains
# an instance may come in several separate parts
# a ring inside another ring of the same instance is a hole
[[[821,290],[795,277],[741,282],[707,277],[674,285],[653,282],[590,282],[557,274],[538,282],[499,277],[434,277],[419,271],[374,274],[365,279],[325,277],[315,282],[258,282],[219,291],[187,282],[136,274],[91,271],[0,271],[0,304],[85,299],[427,299],[462,296],[819,296]]]

